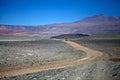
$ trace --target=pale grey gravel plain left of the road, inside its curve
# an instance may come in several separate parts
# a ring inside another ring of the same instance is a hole
[[[55,40],[0,42],[0,68],[77,59],[83,54],[84,52]]]

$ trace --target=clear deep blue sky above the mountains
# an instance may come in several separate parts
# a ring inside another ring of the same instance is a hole
[[[0,0],[0,24],[73,22],[101,13],[120,16],[120,0]]]

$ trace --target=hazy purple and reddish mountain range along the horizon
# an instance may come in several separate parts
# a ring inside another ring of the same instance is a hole
[[[104,14],[86,17],[71,23],[38,26],[0,25],[0,35],[55,36],[61,34],[114,34],[120,32],[120,16]]]

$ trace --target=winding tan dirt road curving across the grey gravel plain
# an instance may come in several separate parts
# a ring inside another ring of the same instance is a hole
[[[0,78],[16,76],[16,75],[21,75],[26,73],[45,71],[50,69],[65,68],[65,67],[70,67],[78,64],[86,64],[103,55],[103,53],[100,51],[96,51],[96,50],[84,47],[73,41],[63,40],[62,42],[70,45],[71,47],[77,50],[84,51],[86,54],[82,56],[82,58],[80,59],[70,59],[70,60],[64,60],[59,62],[46,63],[44,65],[40,65],[39,63],[36,63],[33,65],[23,65],[23,66],[2,68],[0,69]]]

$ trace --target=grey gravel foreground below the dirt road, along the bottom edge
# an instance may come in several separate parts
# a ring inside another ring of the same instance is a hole
[[[120,80],[120,62],[97,61],[0,80]]]

